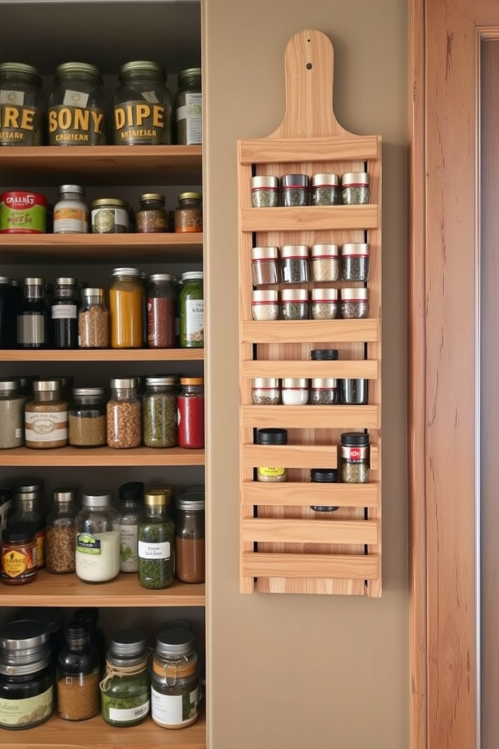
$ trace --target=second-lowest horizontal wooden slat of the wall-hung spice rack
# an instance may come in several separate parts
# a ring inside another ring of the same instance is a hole
[[[242,522],[242,538],[248,542],[376,544],[378,532],[379,524],[374,520],[248,518]]]

